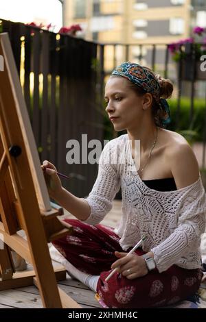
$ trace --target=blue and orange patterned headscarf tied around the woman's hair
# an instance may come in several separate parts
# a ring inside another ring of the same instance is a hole
[[[159,103],[159,108],[163,111],[162,123],[170,123],[170,108],[166,99],[160,98],[160,85],[155,75],[144,66],[132,62],[124,62],[113,70],[111,75],[122,76],[133,84],[139,86],[146,92],[150,92],[155,101]]]

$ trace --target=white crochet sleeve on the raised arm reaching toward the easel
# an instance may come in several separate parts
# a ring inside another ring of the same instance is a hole
[[[89,197],[85,198],[89,203],[91,213],[84,223],[97,225],[112,208],[112,201],[120,188],[120,179],[117,175],[117,163],[112,163],[111,156],[115,156],[113,140],[107,143],[102,151],[98,177]]]

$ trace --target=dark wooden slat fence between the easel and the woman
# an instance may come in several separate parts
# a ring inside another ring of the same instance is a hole
[[[82,134],[103,140],[97,45],[3,20],[1,32],[10,36],[41,161],[72,177],[62,179],[72,193],[88,195],[98,165],[68,164],[66,144],[78,140],[81,156]]]

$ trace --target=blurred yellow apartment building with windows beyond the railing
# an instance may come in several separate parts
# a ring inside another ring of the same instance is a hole
[[[141,57],[145,64],[152,60],[152,47],[147,44],[157,45],[155,63],[162,64],[161,44],[189,37],[194,25],[206,27],[205,15],[206,0],[65,0],[63,4],[64,25],[80,23],[87,40],[133,44],[128,59]],[[113,53],[107,48],[112,64]],[[122,49],[116,49],[118,61]]]

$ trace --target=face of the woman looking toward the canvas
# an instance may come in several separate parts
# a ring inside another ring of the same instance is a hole
[[[106,112],[116,131],[137,129],[143,116],[144,95],[138,95],[124,77],[110,77],[105,87]]]

